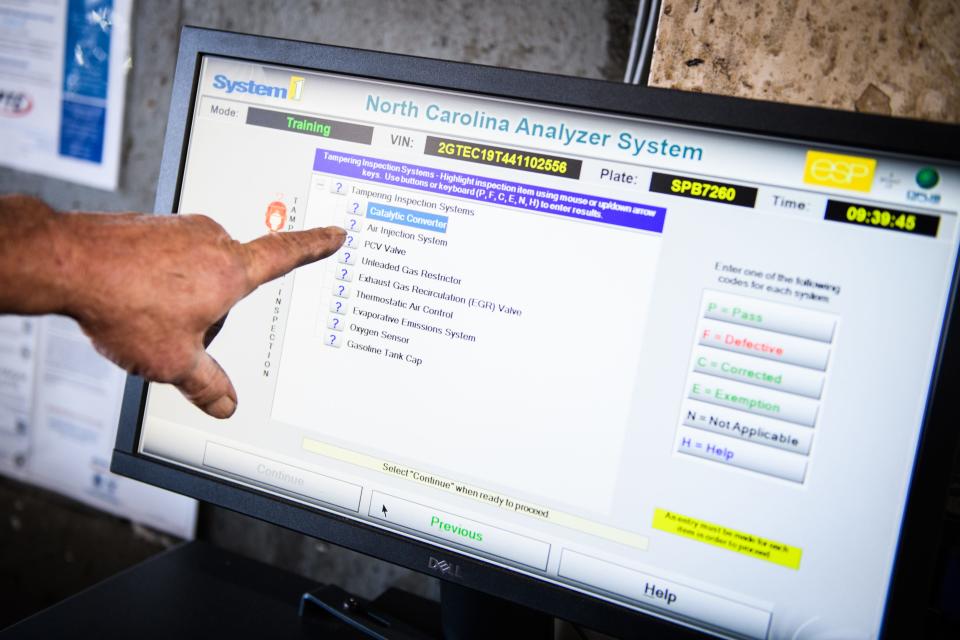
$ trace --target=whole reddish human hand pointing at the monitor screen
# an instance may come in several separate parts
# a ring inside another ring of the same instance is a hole
[[[237,392],[204,334],[258,286],[333,254],[346,237],[327,227],[244,244],[202,215],[56,217],[54,255],[71,274],[65,312],[101,354],[173,384],[217,418],[233,415]]]

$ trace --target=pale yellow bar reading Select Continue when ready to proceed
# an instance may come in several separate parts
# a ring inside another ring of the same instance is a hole
[[[636,549],[646,550],[649,542],[647,536],[640,535],[639,533],[624,531],[623,529],[617,529],[616,527],[594,522],[593,520],[587,520],[586,518],[581,518],[580,516],[563,513],[555,509],[532,504],[523,500],[517,500],[495,491],[488,491],[487,489],[474,487],[463,482],[449,480],[432,473],[425,473],[412,467],[396,464],[387,460],[380,460],[379,458],[368,456],[365,453],[351,451],[349,449],[337,447],[326,442],[320,442],[319,440],[314,440],[312,438],[304,438],[302,446],[305,451],[309,451],[311,453],[317,453],[328,458],[333,458],[334,460],[347,462],[358,467],[373,469],[374,471],[379,471],[381,473],[388,473],[393,476],[410,480],[411,482],[416,482],[418,484],[427,485],[435,489],[446,491],[447,493],[453,493],[466,498],[473,498],[474,500],[478,500],[486,504],[492,504],[496,507],[500,507],[501,509],[512,511],[513,513],[520,513],[531,518],[537,518],[538,520],[550,522],[561,527],[566,527],[582,533],[588,533],[590,535],[597,536],[598,538],[612,540],[613,542],[625,544]]]

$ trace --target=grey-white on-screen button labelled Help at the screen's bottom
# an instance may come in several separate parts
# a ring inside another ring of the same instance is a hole
[[[567,549],[560,557],[559,573],[562,578],[751,638],[766,638],[770,627],[769,611]]]

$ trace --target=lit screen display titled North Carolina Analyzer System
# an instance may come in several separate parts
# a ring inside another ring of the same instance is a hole
[[[178,210],[347,229],[150,456],[728,637],[878,633],[956,170],[206,58]]]

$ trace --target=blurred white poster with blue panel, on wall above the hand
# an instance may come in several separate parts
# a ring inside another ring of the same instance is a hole
[[[117,188],[133,0],[0,0],[0,163]]]

